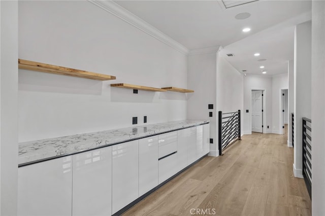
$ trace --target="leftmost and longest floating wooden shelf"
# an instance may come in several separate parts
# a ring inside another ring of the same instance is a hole
[[[80,77],[86,78],[91,80],[115,80],[116,77],[105,75],[105,74],[97,74],[85,70],[78,70],[69,67],[62,67],[52,64],[44,64],[36,61],[28,61],[23,59],[18,59],[18,67],[20,69],[26,70],[36,70],[40,72],[50,73],[50,74],[59,74],[59,75],[66,75],[72,77]]]

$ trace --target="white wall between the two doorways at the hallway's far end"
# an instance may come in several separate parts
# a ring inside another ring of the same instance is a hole
[[[282,93],[288,89],[288,75],[278,75],[272,78],[272,133],[283,134],[282,130]]]

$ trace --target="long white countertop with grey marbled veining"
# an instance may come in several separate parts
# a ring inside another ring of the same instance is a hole
[[[183,120],[20,142],[18,164],[27,165],[209,122]]]

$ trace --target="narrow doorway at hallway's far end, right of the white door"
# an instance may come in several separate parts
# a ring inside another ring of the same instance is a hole
[[[280,133],[284,134],[289,121],[288,112],[288,89],[281,89],[280,96]]]

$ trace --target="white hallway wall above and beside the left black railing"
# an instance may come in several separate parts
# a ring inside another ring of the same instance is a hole
[[[217,109],[223,113],[241,111],[241,134],[243,134],[243,88],[244,76],[218,55],[217,64]],[[218,134],[217,134],[218,136]]]

